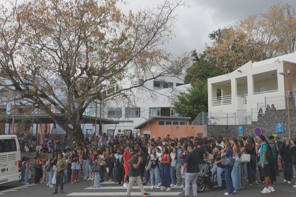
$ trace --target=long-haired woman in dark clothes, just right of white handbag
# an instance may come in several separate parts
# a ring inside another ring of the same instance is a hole
[[[248,180],[249,184],[258,184],[256,177],[256,165],[258,159],[258,146],[252,136],[248,136],[247,145],[245,146],[247,154],[251,155],[250,162],[247,163]]]

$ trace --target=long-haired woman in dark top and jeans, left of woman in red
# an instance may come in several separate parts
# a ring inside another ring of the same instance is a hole
[[[156,155],[156,150],[153,148],[148,157],[148,161],[146,164],[146,171],[150,172],[150,181],[151,181],[151,190],[154,188],[159,188],[157,185],[158,182],[158,157]],[[150,168],[148,168],[148,163],[151,161]]]

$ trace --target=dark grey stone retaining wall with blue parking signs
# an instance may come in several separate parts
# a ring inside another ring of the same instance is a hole
[[[207,134],[222,135],[224,137],[239,137],[238,126],[243,126],[243,136],[254,134],[254,129],[260,127],[262,134],[267,138],[269,135],[277,134],[280,139],[288,138],[288,110],[266,111],[266,114],[258,117],[257,122],[252,125],[208,125]],[[290,110],[291,115],[291,136],[296,137],[296,109]],[[283,133],[277,133],[277,123],[283,123]]]

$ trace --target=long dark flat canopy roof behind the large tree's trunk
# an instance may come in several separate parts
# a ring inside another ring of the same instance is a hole
[[[63,119],[62,114],[54,114],[57,118]],[[7,114],[3,117],[0,117],[0,123],[12,123],[13,114]],[[65,123],[69,122],[68,120],[63,120]],[[97,124],[119,124],[122,121],[114,121],[105,118],[97,118]],[[133,122],[133,121],[132,121]],[[55,124],[52,118],[48,114],[15,114],[14,123],[35,123],[35,124]],[[95,124],[96,117],[94,116],[82,116],[81,124]]]

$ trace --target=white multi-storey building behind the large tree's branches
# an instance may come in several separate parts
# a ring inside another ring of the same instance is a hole
[[[150,78],[151,76],[149,76]],[[144,76],[140,77],[141,84]],[[161,77],[145,82],[144,87],[132,90],[132,96],[127,99],[117,98],[102,106],[102,118],[130,121],[118,125],[103,125],[102,131],[108,135],[136,136],[134,128],[152,116],[176,116],[172,98],[190,88],[184,80],[177,77]],[[150,135],[149,131],[144,132]]]

